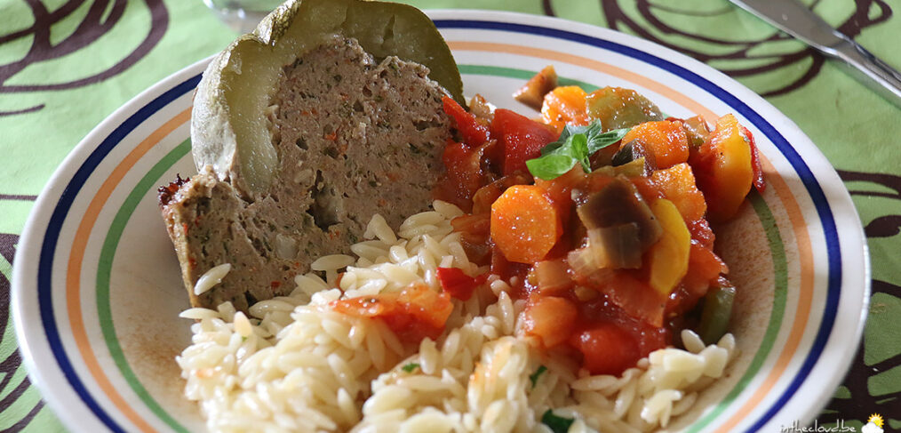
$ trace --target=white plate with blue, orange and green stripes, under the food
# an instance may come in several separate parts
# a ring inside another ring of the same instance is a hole
[[[684,431],[774,431],[823,409],[860,342],[869,261],[842,181],[784,115],[731,78],[647,41],[526,14],[431,13],[468,95],[527,113],[514,88],[552,63],[589,88],[635,88],[669,115],[734,113],[757,137],[768,188],[718,249],[740,287],[742,355],[680,419]],[[173,358],[189,342],[156,189],[195,172],[188,120],[206,60],[116,111],[38,199],[15,260],[15,328],[32,381],[78,431],[201,431]],[[840,229],[841,227],[841,229]]]

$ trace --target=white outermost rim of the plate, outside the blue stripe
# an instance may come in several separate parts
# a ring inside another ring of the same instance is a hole
[[[834,177],[837,179],[842,185],[842,193],[839,194],[839,197],[824,197],[826,199],[827,205],[830,209],[834,209],[835,200],[841,200],[844,204],[850,205],[852,217],[857,222],[858,234],[855,235],[856,238],[859,238],[860,246],[862,247],[862,260],[864,263],[864,269],[861,272],[861,278],[865,281],[865,288],[861,292],[862,305],[860,310],[860,317],[857,319],[856,329],[855,329],[855,343],[856,345],[860,345],[862,341],[862,332],[865,320],[867,318],[867,314],[869,311],[869,295],[870,295],[870,274],[871,268],[869,263],[869,249],[866,243],[866,237],[863,233],[863,227],[860,224],[860,216],[857,212],[857,208],[854,206],[853,201],[851,200],[851,196],[848,193],[847,188],[844,186],[841,178],[838,178],[837,173],[833,165],[825,159],[825,156],[822,152],[815,147],[815,144],[810,141],[810,139],[797,127],[797,125],[791,121],[786,115],[783,115],[775,106],[769,104],[768,101],[753,93],[749,88],[744,87],[738,81],[735,81],[733,78],[729,78],[722,72],[713,69],[700,61],[688,58],[687,56],[678,53],[678,51],[670,50],[669,48],[660,46],[651,41],[644,41],[635,36],[616,32],[610,29],[606,29],[603,27],[598,27],[592,24],[587,23],[578,23],[569,21],[566,19],[555,18],[555,17],[547,17],[541,15],[533,15],[533,14],[523,14],[523,13],[513,13],[506,11],[482,11],[482,10],[472,10],[472,9],[443,9],[443,10],[426,10],[427,14],[429,14],[433,19],[441,20],[445,17],[454,17],[456,19],[462,21],[490,21],[494,19],[495,21],[500,22],[514,22],[514,23],[530,23],[531,25],[539,25],[544,27],[551,27],[554,29],[568,28],[570,32],[578,32],[580,34],[591,35],[591,33],[595,33],[595,37],[600,34],[601,37],[611,36],[614,38],[623,38],[625,37],[628,40],[640,41],[638,46],[640,48],[636,49],[638,51],[648,52],[649,50],[654,53],[654,55],[666,55],[666,60],[673,62],[673,60],[678,60],[677,65],[681,65],[683,62],[688,61],[689,63],[695,62],[695,66],[703,69],[704,76],[701,78],[713,81],[710,74],[714,74],[717,80],[714,84],[719,85],[719,81],[726,80],[729,83],[729,91],[728,94],[740,94],[738,96],[742,97],[742,103],[745,103],[746,106],[754,106],[752,111],[761,111],[764,112],[766,116],[764,117],[765,121],[770,124],[774,124],[774,129],[781,134],[781,132],[786,131],[786,129],[791,130],[792,135],[796,135],[799,137],[804,137],[806,140],[805,147],[810,147],[811,149],[817,151],[814,155],[805,154],[803,161],[809,161],[811,156],[818,157],[822,159],[830,170],[825,173],[825,176],[830,178]],[[468,15],[478,16],[478,18],[469,17]],[[448,18],[450,19],[450,18]],[[566,27],[563,27],[563,24]],[[14,269],[13,269],[13,281],[12,281],[12,302],[11,302],[11,311],[14,318],[14,328],[15,335],[18,339],[19,350],[22,351],[23,354],[23,363],[26,366],[28,371],[28,375],[31,378],[32,382],[38,387],[41,391],[41,397],[50,404],[50,407],[53,409],[54,413],[56,413],[60,419],[65,419],[68,422],[69,426],[78,426],[80,422],[84,422],[85,419],[76,418],[77,414],[74,410],[69,410],[71,406],[65,404],[66,399],[70,398],[72,395],[77,395],[77,393],[72,390],[67,384],[67,392],[68,395],[63,397],[61,393],[54,392],[54,387],[50,386],[49,382],[45,381],[45,374],[50,374],[46,372],[41,372],[41,369],[38,368],[40,363],[37,363],[34,358],[34,349],[37,345],[41,345],[39,350],[43,350],[43,345],[49,345],[49,342],[46,338],[40,338],[39,340],[35,340],[33,337],[29,338],[28,336],[35,331],[38,331],[38,336],[41,336],[43,330],[42,320],[39,318],[35,320],[36,322],[41,324],[41,327],[38,329],[32,329],[34,325],[28,325],[24,320],[25,314],[23,314],[26,310],[28,311],[36,311],[40,315],[40,309],[36,306],[29,307],[28,305],[23,304],[23,302],[28,302],[32,300],[32,296],[27,296],[24,292],[29,288],[29,281],[33,280],[32,277],[35,277],[38,263],[37,260],[41,256],[41,250],[43,247],[44,235],[47,226],[50,224],[50,214],[55,206],[59,202],[59,198],[64,192],[63,189],[66,187],[69,181],[72,180],[72,177],[75,175],[78,168],[84,163],[87,157],[95,150],[96,144],[99,144],[103,141],[105,136],[111,134],[116,127],[123,124],[125,120],[130,118],[130,116],[138,113],[141,108],[147,106],[155,100],[157,97],[162,96],[166,91],[176,88],[179,83],[183,83],[187,80],[187,78],[191,78],[196,76],[196,74],[200,73],[205,69],[205,65],[213,58],[214,56],[210,56],[204,60],[198,60],[195,63],[187,66],[184,69],[180,69],[173,74],[170,74],[167,78],[163,78],[159,80],[154,85],[150,86],[150,88],[145,89],[139,95],[132,97],[128,102],[126,102],[123,106],[114,110],[114,112],[107,117],[105,117],[104,121],[100,124],[97,124],[95,128],[91,130],[90,133],[86,134],[86,136],[73,148],[71,152],[68,153],[66,158],[59,164],[59,167],[54,170],[53,175],[50,177],[50,180],[45,184],[44,188],[41,190],[41,194],[39,198],[35,201],[34,206],[32,207],[32,211],[29,214],[29,217],[26,219],[25,226],[23,227],[22,236],[20,239],[20,248],[16,254],[16,259],[14,260]],[[749,98],[753,99],[749,102]],[[728,104],[727,104],[728,105]],[[760,109],[758,109],[758,107]],[[775,120],[778,120],[778,128],[776,128]],[[807,145],[809,144],[809,145]],[[793,146],[794,147],[794,146]],[[820,178],[823,175],[817,173],[815,178]],[[847,209],[842,209],[847,210]],[[49,211],[49,212],[48,212]],[[847,217],[847,216],[845,216]],[[34,259],[34,260],[25,260],[25,259]],[[840,263],[841,265],[841,263]],[[26,279],[26,277],[28,277]],[[32,287],[32,289],[36,289]],[[33,298],[37,298],[37,292],[34,290],[32,294]],[[830,332],[830,335],[832,332]],[[855,346],[856,346],[855,345]],[[841,368],[838,371],[844,372],[846,374],[849,371],[851,366],[851,360],[853,357],[853,352],[844,356],[842,360],[839,361]],[[51,365],[54,370],[59,370],[59,364],[55,363]],[[56,373],[56,372],[54,372]],[[830,377],[830,382],[834,382],[832,388],[838,386],[839,383],[842,382],[842,375],[833,375]],[[832,394],[821,396],[819,400],[821,402],[810,405],[811,407],[815,407],[815,409],[811,409],[813,413],[809,415],[808,423],[810,419],[813,419],[816,413],[819,413],[825,403],[832,398]],[[59,399],[59,400],[58,400]],[[78,399],[81,401],[81,405],[79,405],[78,410],[84,410],[85,401]],[[822,404],[821,404],[822,403]],[[93,421],[97,421],[96,413],[91,410],[88,410],[87,413],[91,415]],[[806,417],[805,417],[806,418]],[[104,424],[100,424],[105,427]]]

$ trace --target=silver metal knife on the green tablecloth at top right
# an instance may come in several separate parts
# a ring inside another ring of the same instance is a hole
[[[879,60],[797,0],[730,0],[825,55],[844,61],[868,88],[901,107],[901,73]]]

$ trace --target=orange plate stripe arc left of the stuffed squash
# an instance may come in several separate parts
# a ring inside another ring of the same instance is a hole
[[[122,411],[126,418],[132,421],[135,426],[144,432],[156,431],[150,427],[146,420],[141,418],[137,412],[132,410],[129,404],[123,399],[122,395],[116,391],[113,383],[106,377],[103,368],[97,362],[97,357],[93,352],[93,347],[87,337],[85,321],[82,318],[81,310],[81,266],[85,258],[85,249],[87,241],[91,235],[91,230],[103,209],[106,200],[113,194],[113,190],[125,177],[125,174],[132,169],[134,164],[141,160],[150,149],[159,143],[166,135],[174,131],[178,126],[187,123],[191,118],[191,108],[179,113],[156,131],[150,133],[144,141],[138,144],[132,152],[125,156],[122,162],[110,173],[110,176],[104,180],[100,189],[97,189],[96,195],[91,199],[87,206],[85,215],[78,224],[75,233],[75,239],[72,241],[72,253],[68,258],[68,268],[66,273],[66,307],[68,310],[68,321],[72,328],[72,335],[81,357],[87,365],[87,370],[94,376],[97,385],[106,393],[106,396],[113,401],[115,407]]]

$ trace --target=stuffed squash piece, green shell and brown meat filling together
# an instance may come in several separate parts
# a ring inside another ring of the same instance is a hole
[[[160,189],[192,305],[287,294],[377,210],[397,226],[427,207],[450,137],[444,88],[460,94],[453,58],[405,5],[290,2],[219,54],[192,115],[199,173]],[[222,263],[221,282],[197,284]]]

